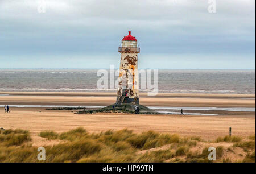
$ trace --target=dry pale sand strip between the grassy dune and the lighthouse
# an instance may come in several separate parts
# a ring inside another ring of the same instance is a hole
[[[0,113],[0,127],[27,129],[34,136],[43,130],[68,131],[82,126],[89,132],[129,128],[135,132],[154,130],[184,136],[214,139],[229,134],[255,134],[255,115],[180,116],[136,114],[74,114],[71,111],[52,111],[43,108],[14,108],[11,113]]]

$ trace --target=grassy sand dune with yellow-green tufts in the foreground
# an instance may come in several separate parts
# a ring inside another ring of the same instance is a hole
[[[44,146],[44,162],[254,162],[255,135],[220,137],[206,142],[200,137],[180,137],[154,131],[108,130],[89,134],[77,129],[57,134],[40,132],[44,141],[62,141]],[[32,146],[26,130],[0,132],[0,162],[39,162],[38,147]],[[208,148],[216,148],[216,161],[208,160]],[[40,161],[42,162],[42,161]]]

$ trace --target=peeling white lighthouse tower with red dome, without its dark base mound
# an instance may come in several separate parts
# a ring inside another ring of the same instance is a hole
[[[118,52],[121,53],[121,60],[115,105],[139,104],[138,53],[140,49],[131,31],[129,35],[123,37]]]

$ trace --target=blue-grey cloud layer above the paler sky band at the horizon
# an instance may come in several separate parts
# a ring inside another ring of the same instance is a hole
[[[0,0],[0,55],[108,55],[127,31],[142,53],[255,55],[255,1]],[[86,59],[90,59],[86,56]],[[251,59],[251,58],[250,58]]]

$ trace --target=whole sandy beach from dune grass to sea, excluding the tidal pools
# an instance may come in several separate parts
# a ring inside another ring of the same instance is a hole
[[[1,92],[0,105],[110,105],[114,93],[24,93]],[[159,94],[140,98],[145,106],[255,107],[255,95],[243,94]],[[11,113],[0,113],[0,127],[27,129],[32,135],[43,130],[67,131],[79,126],[89,132],[128,128],[135,132],[154,130],[183,136],[214,139],[232,134],[255,134],[255,112],[231,112],[217,116],[203,115],[136,115],[75,114],[76,111],[46,110],[45,107],[12,107]],[[221,111],[214,111],[220,113]]]

